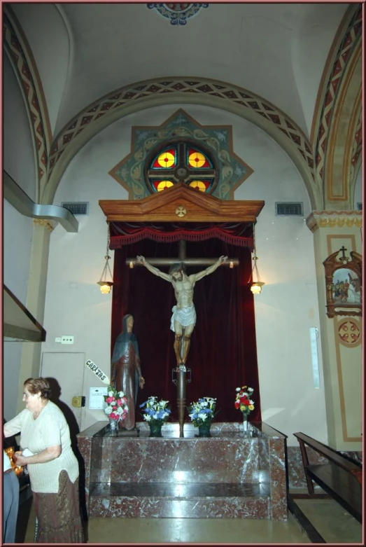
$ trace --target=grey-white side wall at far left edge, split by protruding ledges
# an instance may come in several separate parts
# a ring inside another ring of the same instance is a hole
[[[27,111],[13,68],[3,55],[3,169],[31,200],[36,199],[34,153]],[[3,283],[27,305],[32,219],[3,200]],[[23,342],[3,342],[3,415],[14,417]]]

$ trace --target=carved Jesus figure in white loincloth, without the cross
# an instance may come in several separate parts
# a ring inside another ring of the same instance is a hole
[[[213,273],[225,261],[227,256],[220,256],[213,265],[198,272],[187,275],[184,262],[172,264],[169,273],[160,271],[146,261],[143,256],[136,257],[151,273],[171,282],[176,295],[176,306],[171,310],[171,330],[175,333],[174,352],[178,366],[184,365],[190,351],[190,337],[196,324],[196,310],[193,304],[193,289],[199,279]],[[183,349],[183,350],[182,350]]]

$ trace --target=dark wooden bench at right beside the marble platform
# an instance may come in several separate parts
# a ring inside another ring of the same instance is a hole
[[[335,501],[349,511],[351,515],[363,522],[363,492],[362,492],[362,466],[350,462],[339,452],[333,450],[323,443],[319,443],[303,433],[294,433],[300,443],[302,463],[304,464],[305,478],[307,479],[307,488],[309,496],[316,497],[314,494],[313,480],[325,492],[327,492]],[[328,464],[309,464],[309,457],[305,445],[316,450],[318,454],[328,459]]]

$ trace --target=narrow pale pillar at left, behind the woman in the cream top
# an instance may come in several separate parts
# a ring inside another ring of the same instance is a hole
[[[48,254],[50,235],[57,226],[57,221],[34,219],[31,248],[31,263],[27,293],[27,310],[43,326],[45,312],[45,289],[48,274]],[[47,331],[47,328],[45,328]],[[36,378],[41,370],[41,342],[24,342],[20,363],[19,395],[17,411],[24,409],[22,403],[23,383],[27,378]]]

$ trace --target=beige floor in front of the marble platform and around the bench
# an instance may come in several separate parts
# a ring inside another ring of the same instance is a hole
[[[332,499],[296,503],[327,543],[362,544],[362,525]],[[34,508],[20,513],[17,541],[34,543]],[[289,513],[288,522],[235,518],[90,518],[88,543],[311,543]]]

